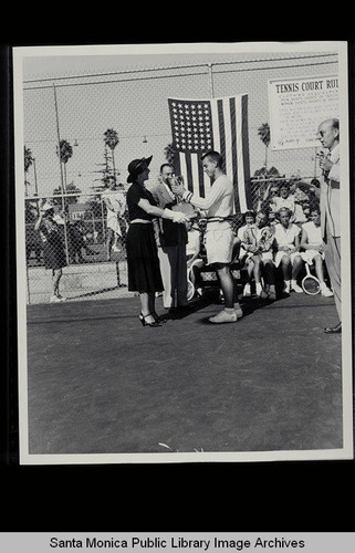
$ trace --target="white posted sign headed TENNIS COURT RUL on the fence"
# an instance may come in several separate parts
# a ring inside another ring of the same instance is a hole
[[[337,75],[269,81],[270,147],[319,146],[322,121],[338,117]]]

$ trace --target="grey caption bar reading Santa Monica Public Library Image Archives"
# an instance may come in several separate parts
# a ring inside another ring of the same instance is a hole
[[[0,533],[0,551],[354,553],[355,533]]]

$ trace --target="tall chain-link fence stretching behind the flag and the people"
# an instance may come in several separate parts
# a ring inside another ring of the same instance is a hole
[[[310,207],[317,201],[316,152],[270,150],[268,137],[260,133],[261,127],[268,128],[268,81],[336,73],[337,55],[332,52],[265,53],[263,59],[246,53],[225,55],[222,62],[210,54],[187,65],[24,80],[28,302],[48,302],[52,293],[52,275],[45,270],[50,230],[60,238],[63,295],[87,299],[128,293],[127,166],[134,158],[153,155],[148,186],[157,184],[171,143],[167,104],[171,96],[248,93],[252,207],[268,208],[270,197],[286,181],[295,192],[297,222],[307,220]],[[111,177],[118,184],[112,192],[118,213],[116,230],[106,199]],[[54,213],[48,210],[39,225],[39,212],[48,204]]]

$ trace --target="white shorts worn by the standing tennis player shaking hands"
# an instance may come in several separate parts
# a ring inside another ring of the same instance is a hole
[[[207,263],[230,263],[233,253],[234,233],[229,223],[210,223],[205,233]]]

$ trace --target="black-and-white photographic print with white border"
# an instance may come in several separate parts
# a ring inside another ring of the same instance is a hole
[[[20,465],[353,459],[347,75],[13,48]]]

